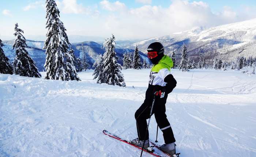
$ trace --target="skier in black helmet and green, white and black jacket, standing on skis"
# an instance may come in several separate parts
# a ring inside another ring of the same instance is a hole
[[[145,140],[144,149],[149,147],[147,119],[150,117],[151,106],[155,96],[152,114],[155,114],[155,119],[163,132],[163,138],[165,140],[165,144],[160,149],[173,156],[176,154],[175,138],[165,114],[167,96],[177,84],[173,75],[170,73],[170,69],[173,67],[173,61],[167,55],[163,54],[164,47],[159,42],[151,43],[147,51],[148,58],[150,58],[150,61],[154,65],[150,72],[144,103],[135,112],[138,138],[129,142],[142,147]]]

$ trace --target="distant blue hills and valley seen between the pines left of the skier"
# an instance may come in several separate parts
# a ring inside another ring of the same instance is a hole
[[[134,52],[135,47],[133,47],[133,49],[121,48],[124,45],[125,46],[129,45],[130,42],[131,41],[117,41],[116,53],[118,56],[118,63],[121,65],[123,65],[123,54]],[[10,61],[12,62],[15,58],[15,50],[12,50],[14,39],[9,41],[3,41],[3,43],[4,43],[4,46],[3,46],[4,53],[8,58],[10,58]],[[26,43],[28,45],[27,51],[29,52],[33,60],[36,62],[38,70],[44,71],[44,64],[45,64],[45,57],[46,57],[45,50],[42,50],[42,48],[44,47],[44,42],[27,40]],[[118,43],[120,43],[120,45]],[[97,58],[97,56],[100,54],[103,55],[105,53],[105,48],[103,47],[103,44],[99,44],[93,41],[85,41],[83,42],[83,45],[87,55],[87,60],[92,68],[92,65],[95,59]],[[74,49],[75,56],[77,58],[78,57],[82,58],[83,56],[82,42],[72,43],[71,46],[72,46],[72,49]],[[143,54],[142,52],[140,52],[140,58],[142,61],[144,60],[144,58],[146,58],[147,62],[148,63],[150,62],[147,58],[147,55]]]

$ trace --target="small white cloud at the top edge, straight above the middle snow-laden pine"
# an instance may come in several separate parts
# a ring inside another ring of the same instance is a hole
[[[103,0],[100,2],[100,4],[103,9],[108,11],[125,11],[127,9],[126,5],[120,1],[111,3],[108,0]]]

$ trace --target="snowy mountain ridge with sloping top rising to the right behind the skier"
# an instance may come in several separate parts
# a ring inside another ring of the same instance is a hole
[[[256,57],[256,19],[225,24],[204,29],[196,27],[192,30],[177,32],[161,37],[154,37],[132,44],[146,53],[152,42],[161,42],[166,53],[176,51],[180,59],[182,45],[185,44],[190,57],[199,60],[200,56],[208,60],[221,55],[226,61],[233,61],[238,56]]]

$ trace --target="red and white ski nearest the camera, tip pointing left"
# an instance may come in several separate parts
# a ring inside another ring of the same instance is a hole
[[[129,143],[127,140],[125,140],[125,139],[123,139],[123,138],[121,138],[121,137],[119,137],[119,136],[117,136],[115,134],[112,134],[112,133],[108,132],[107,130],[103,130],[103,134],[108,135],[109,137],[112,137],[114,139],[117,139],[117,140],[119,140],[121,142],[127,143],[127,144],[129,144],[131,146],[134,146],[134,147],[139,148],[140,150],[142,150],[141,147],[133,145],[132,143]],[[161,154],[158,154],[158,153],[154,152],[154,149],[152,149],[152,147],[150,147],[150,148],[151,148],[151,151],[144,149],[145,152],[147,152],[147,153],[149,153],[149,154],[151,154],[153,156],[156,156],[156,157],[166,157],[166,156],[163,156]]]

